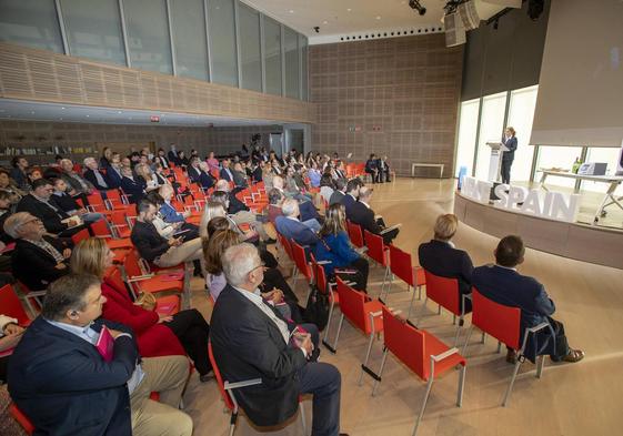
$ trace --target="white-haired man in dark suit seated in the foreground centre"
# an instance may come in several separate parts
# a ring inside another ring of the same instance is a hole
[[[297,333],[295,326],[258,294],[264,274],[254,246],[244,243],[228,249],[222,264],[228,286],[212,313],[210,341],[224,379],[261,379],[235,389],[245,415],[259,426],[279,425],[297,413],[299,395],[312,394],[312,435],[338,436],[338,368],[310,362],[312,335]]]

